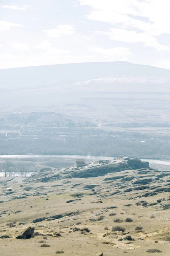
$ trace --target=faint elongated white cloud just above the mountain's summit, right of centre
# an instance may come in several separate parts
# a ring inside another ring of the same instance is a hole
[[[111,49],[103,49],[101,47],[91,47],[91,52],[101,54],[103,57],[113,57],[117,60],[125,60],[128,55],[132,55],[130,49],[125,47],[114,47]]]

